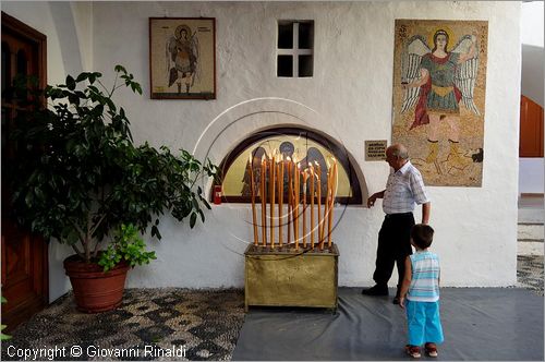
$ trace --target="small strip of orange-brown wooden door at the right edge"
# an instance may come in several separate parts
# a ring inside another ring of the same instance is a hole
[[[524,96],[520,99],[519,157],[543,157],[543,107]]]

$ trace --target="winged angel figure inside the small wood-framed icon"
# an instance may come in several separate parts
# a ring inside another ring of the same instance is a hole
[[[192,33],[185,24],[177,26],[174,34],[167,40],[166,51],[169,87],[175,83],[178,93],[189,94],[199,74],[196,32]]]

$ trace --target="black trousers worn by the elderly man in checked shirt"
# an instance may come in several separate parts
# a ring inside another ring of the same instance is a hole
[[[412,213],[389,214],[383,221],[378,232],[376,268],[373,279],[378,286],[387,286],[393,272],[393,263],[398,265],[398,291],[405,273],[407,255],[412,254],[411,228],[414,226]]]

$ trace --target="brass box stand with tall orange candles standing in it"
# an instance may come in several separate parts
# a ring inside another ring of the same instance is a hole
[[[276,161],[271,155],[262,159],[259,169],[258,185],[250,173],[254,242],[244,252],[245,311],[252,305],[336,310],[339,251],[331,240],[331,222],[337,161],[328,167],[326,190],[322,190],[317,164],[301,170],[298,162]],[[256,198],[261,200],[261,222]]]

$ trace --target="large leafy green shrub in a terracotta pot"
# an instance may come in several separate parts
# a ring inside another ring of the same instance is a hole
[[[160,215],[189,218],[192,228],[197,218],[204,222],[203,208],[210,206],[202,189],[194,186],[199,177],[218,176],[209,160],[202,164],[186,150],[175,156],[165,146],[134,145],[125,110],[112,96],[123,86],[138,94],[142,88],[123,67],[114,71],[109,88],[97,72],[69,75],[65,84],[46,89],[35,89],[28,80],[20,80],[15,87],[27,111],[20,112],[12,132],[13,216],[46,239],[73,248],[75,255],[64,261],[66,273],[92,273],[80,278],[87,279],[83,285],[71,276],[78,307],[86,312],[120,303],[126,269],[155,257],[137,233],[150,231],[160,239]],[[112,244],[101,251],[108,240]],[[83,294],[104,294],[104,281],[95,272],[117,278],[112,289],[118,289],[118,297],[82,302],[81,287]]]

